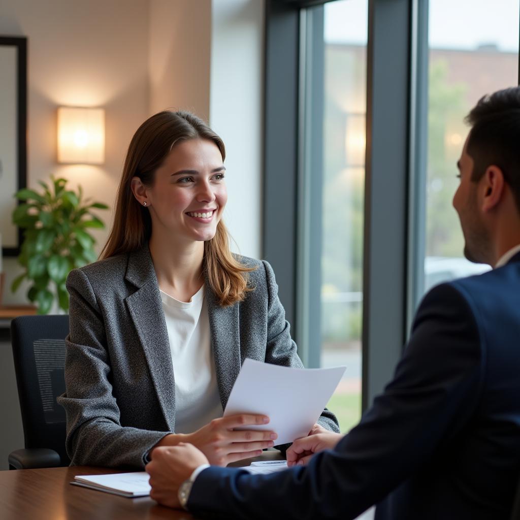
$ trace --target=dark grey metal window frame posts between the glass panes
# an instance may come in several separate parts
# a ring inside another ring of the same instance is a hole
[[[301,111],[309,84],[313,86],[302,71],[302,56],[308,57],[313,51],[306,48],[302,55],[300,43],[303,35],[309,34],[308,17],[302,10],[325,3],[266,0],[265,11],[262,247],[264,257],[275,269],[280,300],[306,366],[316,366],[320,348],[320,276],[314,275],[311,284],[308,281],[311,272],[321,272],[319,258],[316,263],[321,228],[312,222],[298,223],[298,214],[305,202],[315,209],[321,207],[321,188],[319,202],[313,200],[317,197],[311,182],[316,179],[309,179],[302,151],[309,140],[300,128],[303,118],[317,118]],[[428,8],[427,0],[369,0],[363,410],[392,378],[422,294]],[[392,31],[387,30],[388,25]],[[520,83],[520,58],[518,79]],[[302,81],[306,82],[304,87]],[[316,136],[310,140],[316,146],[313,139]],[[309,190],[313,194],[310,202]],[[391,225],[388,215],[392,215]],[[306,237],[306,243],[302,243],[302,237]],[[302,255],[305,262],[300,261]]]

